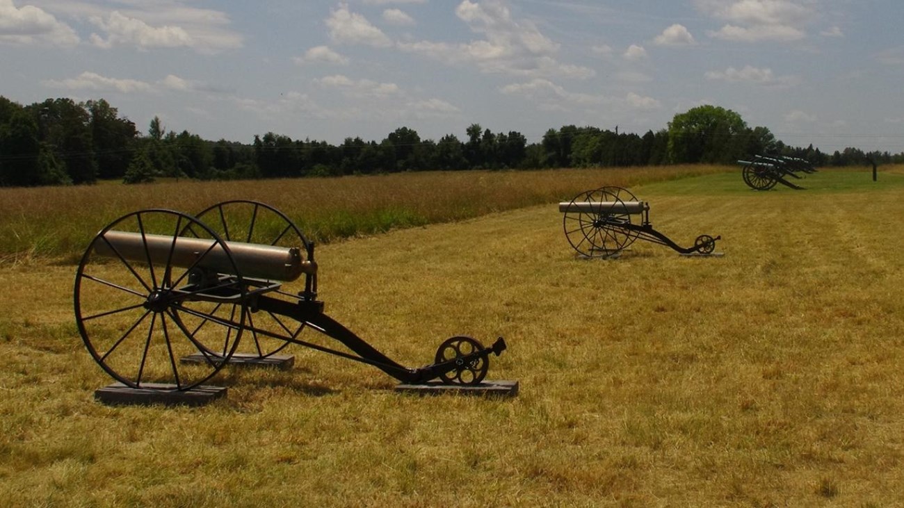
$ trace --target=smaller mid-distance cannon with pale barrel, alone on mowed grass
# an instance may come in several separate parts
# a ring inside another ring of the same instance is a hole
[[[716,240],[698,236],[693,245],[682,247],[650,223],[650,205],[622,187],[605,186],[579,193],[570,202],[560,202],[562,225],[572,248],[585,258],[614,258],[635,240],[665,245],[683,255],[716,255]]]

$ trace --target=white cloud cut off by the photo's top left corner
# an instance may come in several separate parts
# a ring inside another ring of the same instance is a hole
[[[80,39],[53,14],[33,5],[16,8],[13,0],[0,0],[0,42],[71,46]]]

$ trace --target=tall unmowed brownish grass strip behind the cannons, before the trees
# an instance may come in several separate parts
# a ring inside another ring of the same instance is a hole
[[[308,240],[321,243],[553,202],[603,184],[721,171],[727,168],[688,165],[0,189],[0,263],[78,259],[102,227],[143,209],[195,214],[228,200],[265,202],[296,221]]]

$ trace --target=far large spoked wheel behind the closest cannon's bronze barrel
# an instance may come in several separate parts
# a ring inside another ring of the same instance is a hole
[[[302,259],[306,259],[308,241],[301,230],[298,230],[295,223],[283,212],[268,204],[246,200],[220,202],[198,213],[196,217],[216,231],[223,240],[294,247],[300,249]],[[191,234],[186,232],[186,235]],[[313,284],[313,281],[308,284]],[[293,302],[298,300],[297,293],[283,289],[270,291],[268,296],[282,296]],[[247,311],[245,340],[236,350],[234,357],[267,358],[285,349],[289,341],[297,338],[305,328],[304,323],[269,312],[251,312],[250,309]],[[208,352],[214,353],[214,349],[209,348]]]

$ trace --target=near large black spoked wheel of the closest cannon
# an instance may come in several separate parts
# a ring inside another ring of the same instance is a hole
[[[176,249],[187,228],[192,249]],[[240,343],[246,309],[220,302],[242,301],[246,291],[213,230],[191,215],[145,210],[91,241],[73,299],[82,341],[110,376],[133,388],[189,390],[220,371]],[[180,361],[196,353],[202,362]]]

